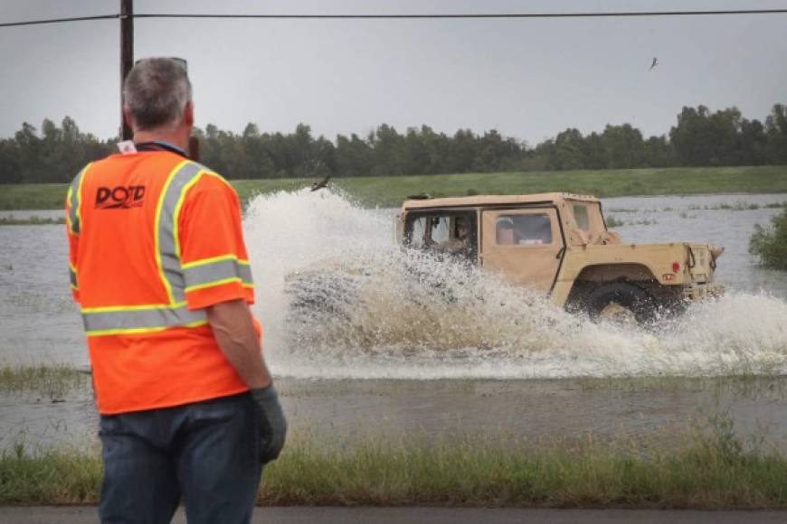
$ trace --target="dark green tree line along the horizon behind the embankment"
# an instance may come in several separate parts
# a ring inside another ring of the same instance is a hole
[[[535,146],[494,129],[447,135],[421,126],[400,133],[387,124],[333,141],[313,136],[306,124],[289,134],[261,133],[251,123],[235,134],[209,124],[194,134],[200,160],[232,179],[787,164],[782,104],[764,122],[737,108],[698,106],[683,108],[667,135],[645,138],[630,124],[588,135],[569,128]],[[0,183],[70,182],[84,164],[116,153],[117,142],[81,132],[71,117],[61,126],[46,119],[40,131],[25,122],[0,139]]]

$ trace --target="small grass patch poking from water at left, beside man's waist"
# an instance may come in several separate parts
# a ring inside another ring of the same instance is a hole
[[[48,398],[62,398],[66,392],[89,384],[90,376],[86,372],[68,366],[0,366],[0,392],[35,391]]]

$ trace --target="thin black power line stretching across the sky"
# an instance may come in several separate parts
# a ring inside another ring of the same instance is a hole
[[[450,20],[450,19],[504,19],[504,18],[621,18],[655,16],[717,16],[729,14],[787,14],[785,9],[734,9],[723,11],[608,11],[602,13],[467,13],[467,14],[134,14],[134,18],[212,18],[212,19],[271,19],[271,20]],[[0,23],[0,27],[68,23],[120,18],[120,14],[100,14],[73,18],[52,18],[25,22]]]

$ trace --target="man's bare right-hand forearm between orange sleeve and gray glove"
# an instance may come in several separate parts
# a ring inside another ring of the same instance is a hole
[[[249,304],[242,299],[223,302],[208,307],[207,314],[216,342],[246,385],[251,389],[270,386],[270,371],[262,360]]]

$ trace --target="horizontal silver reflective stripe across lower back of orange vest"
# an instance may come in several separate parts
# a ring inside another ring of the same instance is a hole
[[[133,330],[163,329],[202,323],[207,320],[203,310],[189,311],[180,307],[152,307],[150,309],[131,309],[125,311],[82,313],[85,331],[117,332]]]

